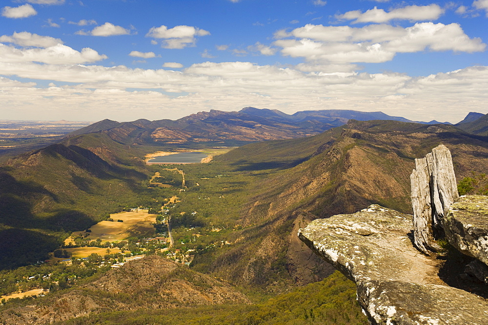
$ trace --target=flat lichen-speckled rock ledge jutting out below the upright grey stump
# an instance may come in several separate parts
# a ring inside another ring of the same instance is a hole
[[[413,247],[412,228],[412,216],[371,205],[314,220],[298,236],[356,282],[373,324],[487,324],[488,303],[446,286],[437,261]]]

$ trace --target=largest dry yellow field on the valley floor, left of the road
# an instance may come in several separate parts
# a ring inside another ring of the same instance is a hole
[[[87,237],[90,240],[98,238],[105,241],[122,240],[131,236],[154,236],[156,215],[150,215],[147,210],[139,212],[121,212],[110,215],[114,221],[101,221],[90,228],[91,233]],[[123,222],[117,222],[117,220]],[[73,237],[85,234],[84,231],[74,232]],[[66,242],[67,243],[67,242]]]

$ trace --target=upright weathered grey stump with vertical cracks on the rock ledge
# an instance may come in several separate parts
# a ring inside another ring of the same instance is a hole
[[[410,175],[414,244],[423,253],[436,251],[434,238],[444,235],[442,219],[459,197],[451,153],[439,145],[425,158],[415,159]]]

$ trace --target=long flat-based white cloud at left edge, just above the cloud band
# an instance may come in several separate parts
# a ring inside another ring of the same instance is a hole
[[[100,55],[88,47],[79,52],[59,43],[46,48],[28,49],[18,49],[0,43],[0,62],[3,63],[40,62],[52,65],[72,65],[96,62],[106,58],[106,55]]]

